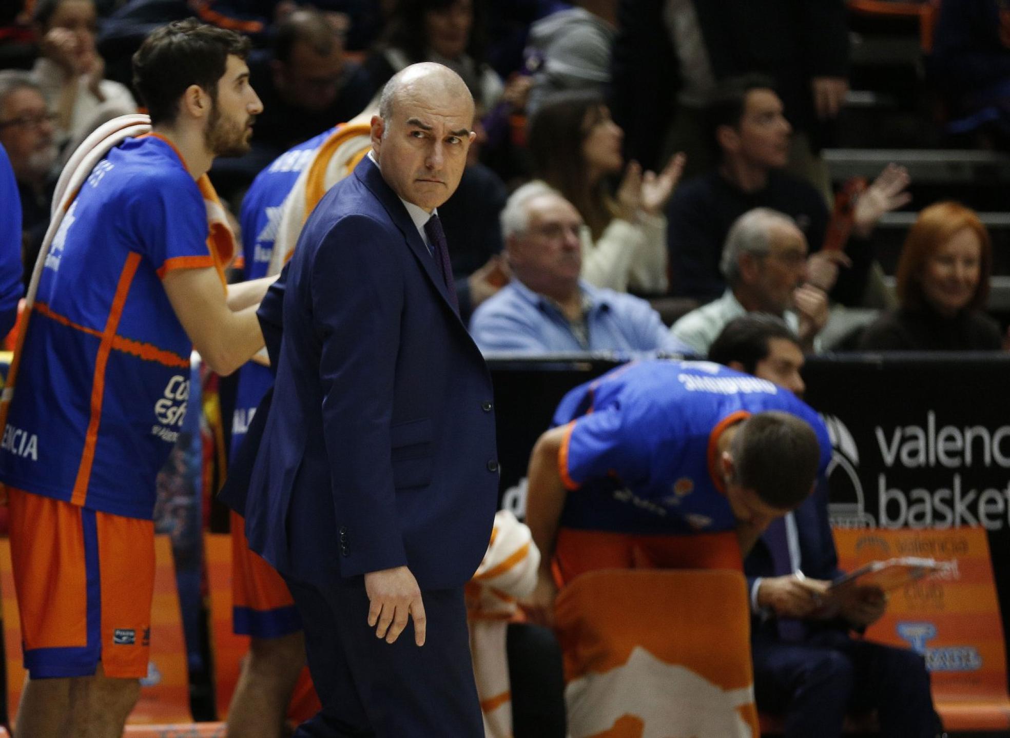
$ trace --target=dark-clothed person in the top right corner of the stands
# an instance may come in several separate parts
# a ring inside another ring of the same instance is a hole
[[[1010,148],[1010,7],[1004,0],[940,4],[927,71],[951,133]]]

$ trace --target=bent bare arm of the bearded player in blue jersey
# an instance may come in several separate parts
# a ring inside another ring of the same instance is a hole
[[[231,310],[215,269],[172,270],[162,284],[193,347],[217,374],[230,375],[263,348],[257,305]]]

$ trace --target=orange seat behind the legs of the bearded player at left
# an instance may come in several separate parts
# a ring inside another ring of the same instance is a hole
[[[141,679],[140,699],[130,723],[189,722],[189,672],[183,637],[175,564],[169,536],[155,537],[155,598],[150,615],[150,662]],[[4,651],[7,664],[7,714],[11,721],[24,686],[21,664],[21,624],[14,596],[10,541],[0,539],[0,594],[2,594]]]

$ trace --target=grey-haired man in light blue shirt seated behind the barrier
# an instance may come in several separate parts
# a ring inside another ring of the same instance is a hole
[[[683,352],[644,300],[579,279],[582,227],[572,203],[541,182],[512,193],[502,233],[514,279],[474,313],[481,350]]]

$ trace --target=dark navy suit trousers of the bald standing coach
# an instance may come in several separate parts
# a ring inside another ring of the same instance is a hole
[[[421,593],[427,633],[418,648],[412,619],[395,643],[376,637],[363,576],[286,581],[322,703],[294,738],[483,738],[462,587]]]

